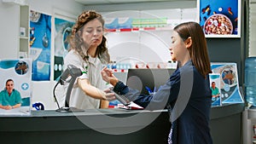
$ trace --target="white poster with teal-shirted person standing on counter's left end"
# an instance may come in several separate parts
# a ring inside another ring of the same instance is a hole
[[[29,115],[32,60],[0,60],[0,115]]]

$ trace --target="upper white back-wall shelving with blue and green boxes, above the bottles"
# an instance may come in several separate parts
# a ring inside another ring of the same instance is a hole
[[[145,62],[170,60],[172,30],[183,21],[195,19],[196,9],[150,9],[104,14],[105,33],[111,59],[135,57]],[[151,56],[148,56],[151,55]]]

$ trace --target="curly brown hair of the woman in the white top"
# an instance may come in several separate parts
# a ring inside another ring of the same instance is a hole
[[[86,60],[86,61],[88,59],[88,55],[84,54],[83,49],[85,49],[85,51],[87,52],[89,48],[87,43],[84,43],[84,40],[82,37],[83,31],[81,30],[83,29],[83,26],[86,25],[90,20],[95,20],[95,19],[99,20],[102,23],[102,31],[103,31],[105,21],[102,18],[102,14],[96,13],[96,11],[94,10],[88,10],[81,13],[72,29],[72,35],[70,40],[71,49],[75,49],[79,53],[79,55],[83,58],[83,60]],[[103,35],[102,43],[96,49],[96,55],[100,58],[100,60],[103,59],[104,62],[109,62],[110,58],[109,58],[106,43],[107,43],[107,39]]]

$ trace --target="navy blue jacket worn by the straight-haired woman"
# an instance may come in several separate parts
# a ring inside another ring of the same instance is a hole
[[[212,92],[209,78],[197,71],[192,61],[189,60],[184,66],[177,68],[165,85],[154,95],[141,95],[137,89],[131,89],[119,82],[113,91],[119,95],[125,95],[131,101],[149,110],[163,109],[170,106],[172,110],[176,104],[179,92],[188,90],[183,86],[181,75],[192,78],[191,90],[189,91],[188,104],[185,105],[181,115],[172,122],[170,143],[172,144],[212,144],[209,121],[212,102]],[[182,93],[182,92],[181,92]]]

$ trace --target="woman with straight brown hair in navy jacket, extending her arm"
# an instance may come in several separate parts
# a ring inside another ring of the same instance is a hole
[[[102,70],[102,78],[114,86],[115,93],[125,95],[145,109],[167,107],[172,122],[169,144],[212,144],[209,128],[212,94],[208,78],[212,71],[201,26],[186,22],[174,27],[170,51],[172,60],[177,60],[177,70],[154,95],[141,95],[137,89],[127,87],[107,68]],[[109,101],[114,99],[114,95],[108,95]]]

